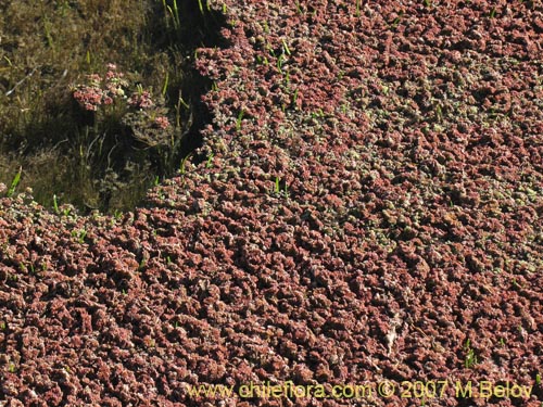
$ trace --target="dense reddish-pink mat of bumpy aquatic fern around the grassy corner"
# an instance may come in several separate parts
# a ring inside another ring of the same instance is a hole
[[[0,201],[0,404],[540,406],[541,3],[209,5],[204,162]]]

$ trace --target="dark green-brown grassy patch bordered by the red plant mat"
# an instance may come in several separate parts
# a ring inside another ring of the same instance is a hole
[[[17,190],[30,187],[46,207],[113,213],[134,208],[157,176],[174,174],[193,144],[186,139],[205,85],[190,60],[207,35],[201,23],[213,17],[200,7],[2,1],[0,182],[20,174]],[[100,105],[85,104],[92,87]],[[138,105],[146,99],[151,110]]]

